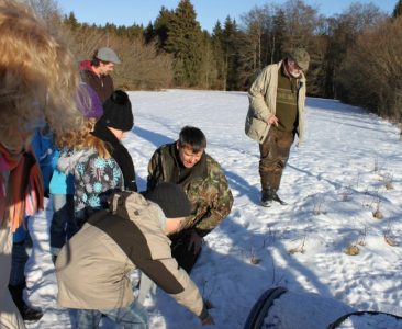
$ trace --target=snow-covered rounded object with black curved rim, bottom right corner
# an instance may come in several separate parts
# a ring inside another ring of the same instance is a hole
[[[402,317],[358,311],[332,297],[284,287],[267,290],[253,306],[244,329],[402,329]]]

